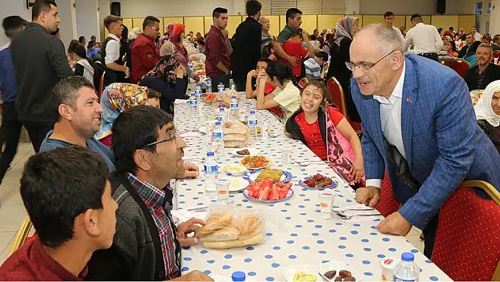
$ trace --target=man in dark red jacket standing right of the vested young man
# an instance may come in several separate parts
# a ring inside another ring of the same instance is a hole
[[[139,35],[132,45],[131,81],[138,83],[141,78],[152,70],[160,61],[160,53],[155,45],[155,37],[160,30],[160,20],[153,16],[145,17],[143,33]]]

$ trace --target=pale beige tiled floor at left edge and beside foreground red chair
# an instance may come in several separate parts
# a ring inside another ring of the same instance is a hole
[[[0,264],[4,263],[7,258],[11,241],[26,216],[23,200],[19,194],[19,179],[26,160],[32,154],[30,143],[20,143],[16,158],[11,164],[12,168],[7,172],[0,186]],[[406,238],[420,252],[423,252],[424,243],[419,239],[420,233],[422,232],[417,228],[412,228]]]

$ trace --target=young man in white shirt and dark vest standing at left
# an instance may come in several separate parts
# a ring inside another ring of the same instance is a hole
[[[125,82],[125,78],[130,76],[130,69],[124,66],[124,61],[120,57],[120,38],[124,30],[122,18],[119,16],[107,16],[104,19],[108,35],[101,47],[102,65],[105,66],[104,87],[111,83]]]

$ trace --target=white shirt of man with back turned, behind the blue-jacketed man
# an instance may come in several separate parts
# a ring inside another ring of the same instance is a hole
[[[410,47],[410,43],[415,46],[415,54],[437,53],[443,48],[443,40],[434,25],[424,25],[424,23],[417,23],[415,28],[408,30],[405,52]]]

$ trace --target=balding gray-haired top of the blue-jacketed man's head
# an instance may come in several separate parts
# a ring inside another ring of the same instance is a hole
[[[403,53],[404,41],[400,31],[396,31],[393,27],[389,27],[382,23],[372,23],[362,28],[356,35],[363,33],[365,30],[371,30],[376,39],[376,47],[381,53],[388,54],[389,52],[399,51]]]

